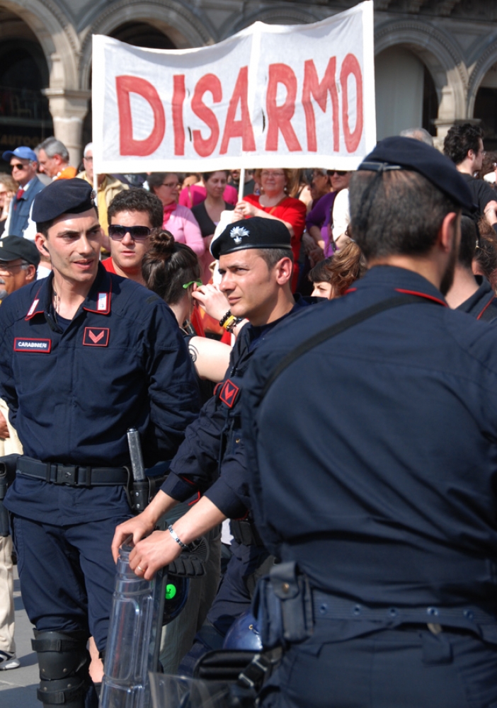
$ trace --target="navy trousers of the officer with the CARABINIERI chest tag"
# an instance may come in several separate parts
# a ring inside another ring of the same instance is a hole
[[[21,595],[39,632],[83,631],[105,649],[115,563],[115,527],[129,516],[58,526],[13,515]]]

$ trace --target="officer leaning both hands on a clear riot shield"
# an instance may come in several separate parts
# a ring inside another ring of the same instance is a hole
[[[244,445],[240,433],[240,388],[253,353],[290,313],[304,307],[295,302],[290,289],[292,253],[290,233],[278,221],[242,219],[230,224],[213,241],[212,255],[219,258],[221,290],[230,310],[228,327],[246,318],[232,351],[227,376],[217,395],[202,408],[200,418],[186,432],[185,442],[173,459],[161,492],[137,518],[116,530],[113,552],[132,533],[137,543],[130,556],[135,572],[152,578],[193,539],[231,518],[232,558],[217,598],[207,615],[210,630],[203,630],[198,655],[205,648],[222,646],[224,634],[234,619],[249,609],[251,576],[268,559],[250,517],[246,487]],[[202,499],[166,532],[154,532],[156,520],[178,501],[193,494]],[[196,655],[195,655],[196,656]]]

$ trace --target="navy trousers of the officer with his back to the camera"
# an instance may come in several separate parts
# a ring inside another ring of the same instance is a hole
[[[423,625],[285,652],[263,708],[496,708],[497,646]]]

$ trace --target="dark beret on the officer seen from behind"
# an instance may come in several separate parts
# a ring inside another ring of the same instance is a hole
[[[419,172],[452,201],[474,211],[471,192],[455,164],[434,147],[411,137],[387,137],[377,144],[358,170]]]

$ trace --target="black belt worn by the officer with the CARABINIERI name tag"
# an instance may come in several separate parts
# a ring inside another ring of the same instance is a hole
[[[32,457],[19,457],[16,474],[42,479],[52,484],[67,484],[75,487],[125,485],[128,472],[125,467],[82,467],[81,465],[41,462]]]

